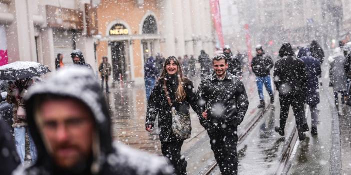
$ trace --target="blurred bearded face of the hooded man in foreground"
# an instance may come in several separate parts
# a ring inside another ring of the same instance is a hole
[[[91,156],[92,116],[88,108],[74,99],[43,103],[37,119],[46,149],[61,168],[72,168]]]

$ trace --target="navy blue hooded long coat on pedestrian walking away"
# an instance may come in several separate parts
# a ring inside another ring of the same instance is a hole
[[[297,57],[300,58],[306,66],[307,91],[305,102],[308,105],[315,106],[319,103],[318,76],[321,73],[319,61],[310,55],[309,48],[307,47],[300,48]]]

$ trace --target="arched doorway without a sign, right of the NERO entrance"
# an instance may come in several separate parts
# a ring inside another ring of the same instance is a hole
[[[146,16],[145,20],[142,23],[142,34],[157,34],[157,23],[153,15]],[[155,56],[155,39],[142,39],[142,50],[144,55],[144,62],[150,56]]]

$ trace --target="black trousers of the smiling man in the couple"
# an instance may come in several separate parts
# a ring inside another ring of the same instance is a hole
[[[207,129],[209,143],[222,175],[237,175],[237,129],[233,125],[213,123]]]

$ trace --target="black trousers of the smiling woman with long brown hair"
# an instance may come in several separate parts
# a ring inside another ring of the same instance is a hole
[[[182,145],[183,141],[161,142],[162,154],[169,159],[176,175],[186,175],[187,162],[180,155]]]

